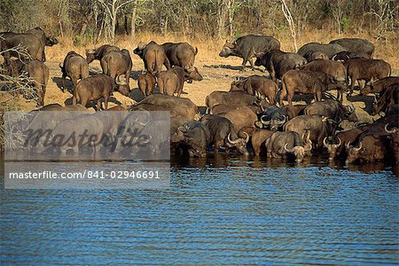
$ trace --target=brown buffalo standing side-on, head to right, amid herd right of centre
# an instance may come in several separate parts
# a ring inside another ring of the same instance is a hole
[[[288,104],[293,104],[295,91],[302,94],[313,94],[316,101],[320,101],[325,90],[337,89],[338,83],[334,82],[332,76],[325,76],[325,81],[321,81],[322,73],[314,71],[290,70],[284,74],[282,79],[282,91],[280,94],[280,106],[283,99],[288,100]]]

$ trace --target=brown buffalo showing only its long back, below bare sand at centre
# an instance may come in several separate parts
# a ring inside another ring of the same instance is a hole
[[[257,98],[244,91],[219,91],[215,90],[205,100],[207,107],[217,105],[250,106],[257,102]]]

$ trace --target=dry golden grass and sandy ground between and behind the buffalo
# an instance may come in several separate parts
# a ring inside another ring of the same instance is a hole
[[[282,50],[294,50],[291,35],[288,31],[278,31],[276,37],[278,38],[278,40],[280,40],[280,43],[282,44]],[[328,43],[332,39],[340,37],[362,37],[371,40],[372,43],[376,43],[372,40],[372,36],[366,34],[336,35],[333,33],[325,32],[323,30],[312,30],[301,33],[301,36],[298,40],[298,45],[299,47],[301,47],[301,45],[303,45],[304,43],[309,42]],[[389,64],[391,64],[393,68],[392,74],[396,75],[399,74],[399,61],[395,57],[395,44],[397,43],[397,39],[397,36],[393,36],[390,38],[391,41],[389,42],[376,43],[375,52],[375,58],[384,59],[389,62]],[[254,72],[246,71],[245,73],[240,73],[238,70],[238,66],[240,66],[242,59],[235,57],[230,57],[227,59],[220,58],[218,54],[223,46],[224,40],[214,40],[209,38],[198,38],[195,40],[191,40],[176,35],[164,36],[154,35],[153,33],[137,34],[136,40],[132,40],[129,36],[118,36],[115,44],[121,48],[128,49],[133,59],[133,79],[131,79],[130,81],[130,87],[133,89],[133,93],[131,95],[131,98],[126,98],[116,92],[114,93],[115,102],[119,102],[123,105],[129,106],[142,98],[141,93],[137,90],[136,80],[137,76],[141,74],[141,72],[144,70],[144,65],[142,60],[139,59],[137,55],[133,54],[132,51],[136,48],[137,43],[139,43],[140,41],[148,42],[151,40],[157,43],[188,42],[191,43],[192,46],[195,46],[199,49],[195,65],[199,68],[200,73],[204,76],[204,80],[202,82],[185,84],[184,91],[186,91],[187,94],[183,95],[183,97],[185,98],[191,98],[192,101],[198,106],[204,106],[206,96],[212,91],[230,90],[230,83],[232,79],[237,75],[263,74],[261,71],[258,70]],[[72,97],[70,93],[62,93],[61,90],[59,90],[59,82],[61,76],[59,63],[63,61],[66,53],[68,51],[74,50],[84,55],[86,48],[95,48],[104,43],[105,42],[100,42],[96,45],[88,43],[83,45],[82,47],[74,47],[73,37],[69,36],[61,38],[58,45],[55,45],[53,47],[46,47],[46,65],[50,67],[51,80],[49,81],[49,85],[47,88],[45,104],[65,104]],[[90,70],[100,70],[98,61],[90,64]],[[359,107],[364,106],[363,102],[359,102],[358,104]],[[20,107],[24,110],[35,109],[35,105],[33,103],[21,103]]]

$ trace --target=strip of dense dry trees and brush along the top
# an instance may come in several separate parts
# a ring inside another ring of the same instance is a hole
[[[317,28],[378,41],[398,29],[395,0],[3,0],[0,14],[1,30],[41,26],[77,45],[136,32],[234,38],[288,28],[298,38]]]

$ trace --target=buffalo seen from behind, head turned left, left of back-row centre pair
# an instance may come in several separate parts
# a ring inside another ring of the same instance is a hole
[[[168,58],[166,56],[163,46],[158,45],[158,43],[138,43],[137,48],[133,51],[137,54],[145,64],[145,69],[150,74],[160,73],[162,70],[162,65],[165,65],[167,69],[170,68]]]

